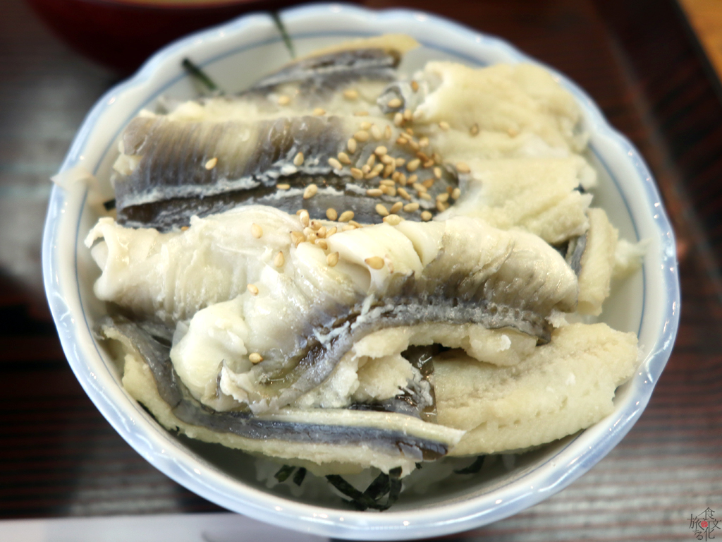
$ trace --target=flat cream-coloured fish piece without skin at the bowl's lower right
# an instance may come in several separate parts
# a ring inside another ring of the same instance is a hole
[[[574,434],[614,410],[638,361],[634,333],[570,324],[513,366],[458,350],[434,358],[438,423],[467,431],[453,455],[525,449]]]

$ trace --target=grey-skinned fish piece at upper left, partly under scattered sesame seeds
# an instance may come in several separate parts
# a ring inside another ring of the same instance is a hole
[[[329,207],[339,214],[351,210],[358,222],[373,224],[383,218],[376,205],[382,203],[390,208],[396,202],[418,203],[417,212],[399,211],[399,215],[406,220],[420,220],[423,210],[432,215],[438,212],[436,196],[458,186],[458,173],[442,167],[441,178],[428,189],[430,199],[422,199],[412,189],[408,191],[411,199],[399,194],[368,196],[367,189],[378,189],[380,176],[355,179],[350,175],[352,167],[361,169],[379,145],[385,145],[390,155],[406,162],[416,155],[395,142],[369,139],[358,144],[357,152],[349,157],[350,165],[334,170],[329,158],[346,150],[352,135],[347,131],[344,119],[336,116],[281,118],[253,124],[135,119],[123,134],[123,145],[126,154],[141,155],[142,159],[129,176],[115,179],[118,223],[168,231],[188,225],[193,215],[203,217],[239,205],[257,204],[290,214],[306,209],[311,218],[324,220]],[[303,164],[294,165],[298,152],[305,159]],[[208,170],[205,164],[211,158],[217,158],[217,164]],[[415,173],[419,181],[432,176],[432,171],[424,168]],[[280,183],[289,184],[290,189],[277,189]],[[310,184],[316,184],[319,192],[304,199],[303,189]]]

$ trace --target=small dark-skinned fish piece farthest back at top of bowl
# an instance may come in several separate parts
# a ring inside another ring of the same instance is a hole
[[[303,93],[323,99],[357,79],[392,81],[400,60],[396,51],[381,48],[335,51],[284,66],[245,92],[267,94],[280,85],[295,83]]]

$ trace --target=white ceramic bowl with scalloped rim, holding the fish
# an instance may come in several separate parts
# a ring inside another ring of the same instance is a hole
[[[422,43],[404,59],[405,70],[417,69],[429,59],[470,66],[534,62],[497,38],[421,12],[320,4],[288,9],[282,18],[299,53],[349,38],[404,32]],[[195,95],[181,69],[186,56],[227,90],[243,89],[288,60],[267,14],[241,17],[173,43],[97,102],[62,171],[84,165],[106,179],[107,186],[114,144],[129,120],[160,95]],[[87,188],[78,184],[53,189],[43,238],[43,273],[61,343],[84,390],[118,433],[170,478],[227,509],[310,533],[369,540],[444,535],[500,520],[560,491],[601,460],[645,408],[677,333],[679,279],[674,234],[639,153],[609,126],[582,90],[561,74],[557,77],[578,99],[591,132],[588,158],[600,177],[594,205],[604,207],[623,237],[650,242],[642,272],[618,285],[604,308],[603,319],[612,327],[638,333],[642,352],[635,376],[617,391],[612,415],[576,436],[521,456],[508,472],[446,483],[425,496],[404,494],[380,514],[352,512],[340,504],[316,506],[269,491],[256,481],[253,462],[243,453],[178,439],[119,384],[116,366],[92,337],[93,322],[104,306],[92,295],[98,270],[82,240],[97,217],[87,205]]]

